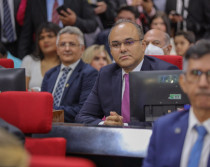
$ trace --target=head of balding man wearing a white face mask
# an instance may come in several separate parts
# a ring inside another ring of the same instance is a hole
[[[146,42],[146,55],[170,55],[172,46],[170,44],[170,36],[158,29],[147,31],[144,36]]]

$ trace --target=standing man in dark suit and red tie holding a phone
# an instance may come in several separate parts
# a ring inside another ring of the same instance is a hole
[[[30,54],[33,50],[33,38],[38,26],[43,22],[53,21],[54,1],[28,0],[18,48],[20,58]],[[57,2],[58,6],[65,5],[68,8],[67,12],[62,11],[64,16],[59,15],[60,26],[76,26],[83,33],[95,31],[97,27],[95,14],[86,0],[57,0]]]

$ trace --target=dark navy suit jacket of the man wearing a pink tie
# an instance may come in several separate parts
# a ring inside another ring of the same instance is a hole
[[[160,59],[145,56],[142,71],[177,70],[172,64]],[[122,69],[117,64],[111,64],[101,69],[96,83],[76,117],[76,122],[98,125],[103,116],[109,116],[110,111],[121,115],[122,99]]]

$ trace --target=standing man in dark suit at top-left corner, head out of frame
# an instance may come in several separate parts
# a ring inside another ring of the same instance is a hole
[[[21,26],[17,23],[16,15],[18,12],[18,8],[20,5],[21,0],[7,0],[7,4],[10,11],[10,19],[13,27],[13,38],[11,40],[7,39],[7,37],[4,37],[3,33],[3,24],[4,24],[4,5],[3,0],[0,2],[0,38],[1,42],[4,44],[6,49],[14,56],[17,55],[18,50],[18,39],[20,37],[21,32]]]

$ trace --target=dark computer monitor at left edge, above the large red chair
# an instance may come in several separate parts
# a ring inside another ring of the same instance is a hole
[[[0,92],[26,91],[24,68],[0,68]]]

